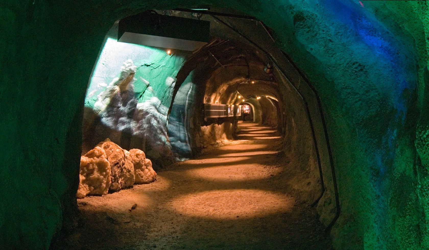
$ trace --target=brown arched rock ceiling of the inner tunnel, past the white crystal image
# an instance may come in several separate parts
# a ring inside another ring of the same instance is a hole
[[[211,43],[195,52],[187,61],[179,75],[199,69],[202,84],[206,85],[206,103],[231,104],[235,98],[233,93],[243,90],[243,96],[270,95],[279,99],[278,83],[275,74],[266,73],[264,68],[271,63],[266,54],[248,42],[223,40],[214,38]],[[178,77],[175,89],[180,87]],[[244,89],[248,86],[247,89]]]

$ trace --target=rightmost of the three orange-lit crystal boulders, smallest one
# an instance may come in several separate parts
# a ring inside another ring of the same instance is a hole
[[[151,160],[147,159],[145,152],[139,149],[130,150],[134,165],[134,175],[136,176],[136,184],[145,184],[155,181],[157,173],[152,169]]]

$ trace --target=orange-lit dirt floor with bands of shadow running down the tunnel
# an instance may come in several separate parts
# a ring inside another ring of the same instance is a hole
[[[315,209],[291,196],[277,132],[239,128],[239,140],[158,172],[154,183],[79,199],[74,248],[331,249]]]

